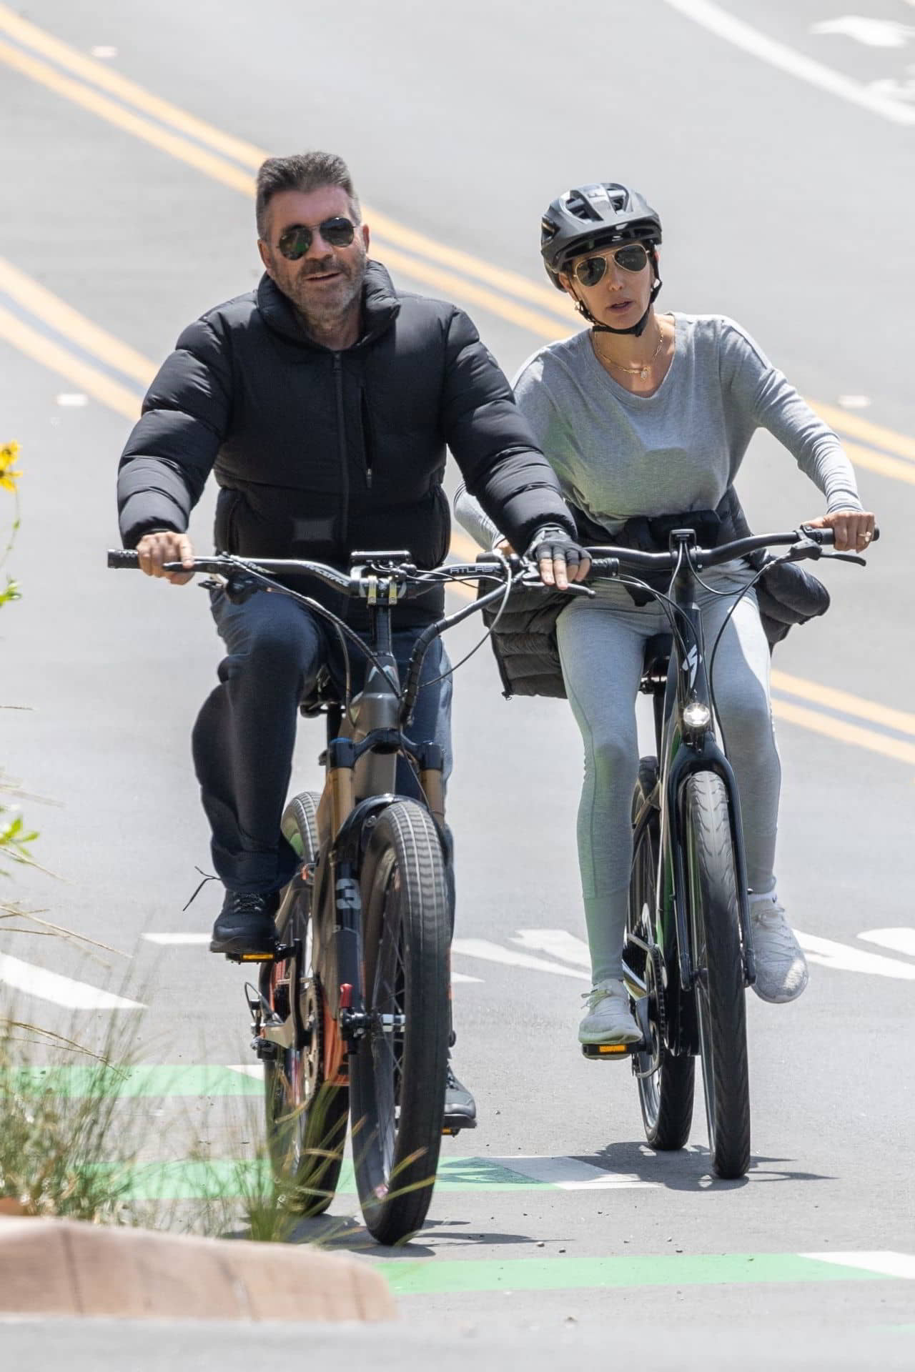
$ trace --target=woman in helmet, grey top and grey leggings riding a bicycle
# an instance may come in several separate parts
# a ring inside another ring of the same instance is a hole
[[[861,552],[871,542],[874,516],[861,508],[835,434],[733,320],[654,313],[660,241],[656,211],[616,182],[567,191],[542,221],[547,274],[590,327],[539,348],[514,388],[579,513],[583,542],[626,542],[639,525],[645,534],[652,525],[690,524],[702,512],[700,543],[708,543],[706,531],[761,427],[826,497],[827,513],[808,523],[833,528],[837,549]],[[479,542],[498,541],[495,527],[464,490],[455,510]],[[717,542],[727,536],[737,535]],[[658,547],[665,550],[665,541]],[[753,576],[745,563],[704,573],[708,590],[701,591],[700,605],[708,643]],[[619,582],[597,582],[594,590],[594,598],[573,600],[557,620],[565,691],[584,741],[578,847],[593,991],[579,1039],[631,1043],[641,1032],[621,980],[621,952],[638,771],[635,700],[646,641],[668,631],[668,623],[654,598],[642,595],[638,604]],[[781,768],[770,648],[754,590],[739,601],[723,632],[713,689],[744,816],[757,966],[753,989],[763,1000],[794,1000],[808,973],[775,882]]]

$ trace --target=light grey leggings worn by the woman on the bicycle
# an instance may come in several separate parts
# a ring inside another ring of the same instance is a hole
[[[716,590],[738,591],[752,573],[739,564],[704,575]],[[572,601],[558,619],[562,675],[584,742],[578,848],[594,982],[619,977],[632,860],[631,805],[638,774],[635,700],[645,641],[668,628],[656,601],[637,606],[626,589],[598,582],[594,600]],[[734,597],[697,597],[705,646]],[[775,831],[781,766],[770,708],[770,652],[754,591],[739,602],[715,659],[715,700],[737,777],[753,892],[775,889]],[[653,748],[652,748],[653,750]]]

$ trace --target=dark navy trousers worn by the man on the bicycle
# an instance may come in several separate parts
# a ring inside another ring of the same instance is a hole
[[[213,863],[230,890],[270,892],[284,886],[296,858],[280,833],[289,789],[299,701],[326,665],[343,690],[343,654],[335,630],[288,595],[257,591],[233,605],[225,591],[211,595],[213,616],[228,656],[219,685],[193,727],[193,766],[203,808],[213,830]],[[394,656],[403,676],[418,628],[395,630]],[[353,690],[359,690],[365,659],[350,648]],[[451,678],[432,683],[449,668],[440,641],[425,657],[409,737],[435,741],[451,770]],[[398,792],[418,796],[416,777],[398,759]]]

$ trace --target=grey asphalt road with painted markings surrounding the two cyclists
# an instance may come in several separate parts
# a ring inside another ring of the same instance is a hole
[[[560,1364],[608,1346],[689,1367],[915,1360],[915,7],[874,0],[857,25],[840,8],[32,0],[32,29],[0,5],[0,442],[21,443],[25,473],[0,704],[27,707],[0,711],[0,759],[58,803],[25,803],[58,879],[16,870],[3,889],[130,955],[100,965],[4,934],[0,975],[41,1024],[91,1037],[136,1021],[148,1063],[188,1069],[187,1093],[150,1077],[137,1099],[150,1158],[198,1140],[222,1157],[226,1121],[257,1118],[258,1084],[193,1070],[248,1056],[237,970],[143,937],[204,932],[218,906],[209,886],[181,911],[195,864],[209,870],[188,734],[217,639],[199,590],[111,576],[103,554],[144,377],[185,322],[259,274],[246,178],[261,150],[340,151],[376,255],[469,309],[509,372],[573,327],[539,268],[545,204],[576,180],[632,181],[664,218],[661,305],[727,313],[757,338],[841,428],[883,531],[866,572],[830,569],[834,608],[775,657],[779,888],[812,977],[789,1007],[749,997],[744,1183],[711,1181],[701,1104],[690,1147],[654,1157],[628,1070],[580,1058],[578,733],[560,702],[502,701],[488,652],[461,671],[454,967],[475,980],[455,986],[455,1066],[480,1126],[444,1144],[429,1222],[402,1253],[372,1253],[353,1195],[332,1210],[332,1242],[383,1261],[401,1294],[403,1334],[376,1346],[391,1365],[455,1339],[449,1356],[484,1367],[509,1339]],[[757,528],[819,513],[765,435],[739,490]],[[204,499],[200,547],[210,516]],[[460,650],[473,631],[454,638]],[[320,742],[302,730],[302,788]],[[88,995],[73,982],[145,1013],[73,1008]],[[54,1331],[7,1332],[54,1360]],[[170,1338],[144,1336],[148,1361],[132,1342],[132,1365],[165,1365]],[[232,1331],[213,1338],[221,1367],[250,1357]],[[119,1356],[118,1331],[67,1339],[86,1367]],[[316,1353],[340,1347],[324,1339]]]

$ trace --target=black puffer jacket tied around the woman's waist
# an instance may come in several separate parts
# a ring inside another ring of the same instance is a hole
[[[675,528],[696,530],[701,547],[716,547],[737,538],[748,538],[750,534],[734,487],[728,487],[715,510],[639,516],[628,520],[616,534],[608,534],[582,510],[573,513],[579,539],[587,546],[608,543],[645,553],[667,552],[668,536]],[[764,550],[752,553],[748,561],[756,571],[765,568],[756,583],[756,598],[770,649],[785,638],[792,624],[803,624],[808,619],[824,615],[829,609],[829,591],[823,583],[797,563],[776,563]],[[654,576],[656,589],[667,590],[669,572]],[[654,583],[652,575],[642,579],[649,584]],[[482,584],[488,587],[488,583]],[[637,604],[650,600],[645,591],[630,590],[630,594]],[[492,628],[491,637],[505,696],[565,696],[556,622],[568,604],[569,598],[562,591],[554,594],[538,590],[512,591],[505,613]],[[495,622],[497,611],[498,606],[483,612],[490,627]]]

